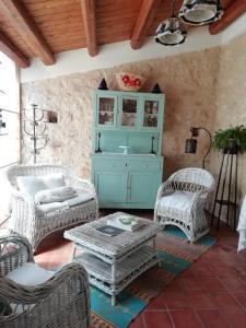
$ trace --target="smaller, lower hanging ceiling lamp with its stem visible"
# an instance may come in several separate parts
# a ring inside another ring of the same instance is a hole
[[[173,0],[171,17],[159,25],[155,42],[164,46],[176,46],[184,44],[186,36],[183,22],[175,16],[175,0]]]

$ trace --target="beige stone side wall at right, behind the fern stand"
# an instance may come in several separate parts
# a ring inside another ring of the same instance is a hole
[[[230,126],[246,125],[246,34],[221,47],[220,70],[216,86],[216,104],[212,132]],[[211,153],[210,168],[218,177],[221,154]],[[246,195],[246,155],[238,160],[239,199]],[[233,179],[234,184],[234,179]],[[227,195],[226,195],[227,197]]]

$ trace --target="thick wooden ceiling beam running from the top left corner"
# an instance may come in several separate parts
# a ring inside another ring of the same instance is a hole
[[[1,0],[0,11],[45,65],[55,63],[55,57],[49,45],[21,0]]]

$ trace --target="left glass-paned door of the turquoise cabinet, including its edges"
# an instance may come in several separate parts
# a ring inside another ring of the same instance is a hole
[[[97,125],[114,127],[116,125],[116,97],[98,97]]]

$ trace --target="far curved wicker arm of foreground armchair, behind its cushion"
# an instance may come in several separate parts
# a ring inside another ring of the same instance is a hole
[[[32,246],[25,237],[20,235],[0,237],[0,276],[5,276],[23,263],[33,261]]]

